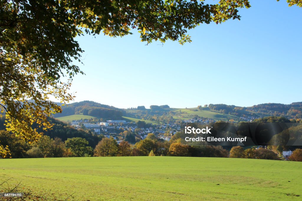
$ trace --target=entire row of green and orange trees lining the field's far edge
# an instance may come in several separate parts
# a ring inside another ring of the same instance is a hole
[[[0,131],[0,140],[9,144],[11,158],[46,158],[46,157],[89,157],[89,156],[191,156],[191,157],[220,157],[220,158],[255,158],[278,160],[276,152],[270,149],[243,149],[241,146],[232,147],[230,152],[222,146],[190,146],[173,139],[171,142],[162,141],[152,133],[147,138],[131,145],[127,141],[117,144],[114,138],[104,137],[95,146],[88,146],[86,139],[75,137],[62,139],[42,136],[31,144],[24,142],[18,136],[7,131]],[[302,149],[296,149],[292,161],[302,161]]]

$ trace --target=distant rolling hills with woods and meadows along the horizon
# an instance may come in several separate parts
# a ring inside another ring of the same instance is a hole
[[[127,121],[145,120],[148,123],[167,123],[175,120],[187,120],[194,117],[213,120],[239,120],[239,117],[260,118],[265,116],[284,116],[288,119],[302,118],[302,102],[292,104],[259,104],[252,107],[238,107],[226,104],[209,104],[208,107],[170,108],[168,105],[146,109],[144,106],[130,109],[119,109],[93,101],[82,101],[62,106],[62,113],[55,114],[58,120],[103,118],[104,120],[126,119]]]

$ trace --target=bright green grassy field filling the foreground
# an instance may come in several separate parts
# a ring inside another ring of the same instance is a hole
[[[0,160],[0,178],[21,181],[38,200],[301,200],[301,168],[237,158],[30,158]]]

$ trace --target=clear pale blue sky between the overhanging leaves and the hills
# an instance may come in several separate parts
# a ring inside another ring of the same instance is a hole
[[[184,108],[302,101],[302,8],[286,0],[250,3],[240,21],[189,30],[192,42],[183,46],[146,46],[137,30],[123,38],[77,37],[86,75],[74,78],[75,102]]]

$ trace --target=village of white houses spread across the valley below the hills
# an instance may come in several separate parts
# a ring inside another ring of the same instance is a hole
[[[123,142],[126,139],[127,133],[132,133],[135,136],[135,141],[133,143],[139,142],[147,138],[149,134],[153,134],[158,140],[163,142],[169,142],[172,136],[177,132],[181,131],[182,123],[199,123],[208,125],[210,123],[225,122],[225,123],[237,123],[237,122],[253,122],[255,119],[261,118],[263,116],[240,116],[237,121],[233,119],[227,120],[217,120],[211,118],[204,118],[199,116],[194,116],[191,119],[182,119],[182,121],[172,121],[172,123],[146,123],[144,120],[139,120],[137,122],[126,121],[126,120],[103,120],[96,123],[92,119],[81,119],[73,120],[69,122],[69,125],[75,129],[84,129],[88,132],[94,133],[96,135],[103,135],[106,138],[113,138],[117,144]],[[128,140],[129,141],[129,140]],[[268,148],[268,146],[257,146],[257,148]],[[288,160],[291,156],[291,150],[284,150],[282,156],[284,160]]]

